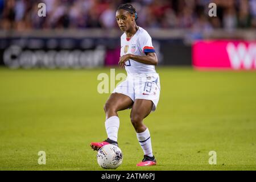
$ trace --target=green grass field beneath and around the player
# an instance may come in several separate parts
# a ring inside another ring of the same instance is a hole
[[[157,71],[160,101],[144,123],[158,165],[136,167],[143,152],[125,110],[117,170],[256,170],[256,72]],[[89,146],[106,138],[109,94],[97,92],[99,73],[110,68],[0,68],[0,170],[102,170]],[[46,165],[38,164],[39,151]],[[216,165],[209,151],[217,152]]]

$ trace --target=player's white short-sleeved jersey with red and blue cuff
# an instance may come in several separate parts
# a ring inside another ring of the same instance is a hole
[[[125,33],[121,36],[121,56],[128,53],[143,56],[148,52],[155,52],[155,49],[152,46],[152,39],[150,35],[143,28],[139,27],[137,32],[130,39],[127,39]],[[132,59],[126,61],[125,64],[127,75],[134,73],[156,73],[154,65],[139,63]]]

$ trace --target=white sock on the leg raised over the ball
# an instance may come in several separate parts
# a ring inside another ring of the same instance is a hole
[[[117,133],[119,129],[119,118],[117,116],[113,116],[108,118],[105,121],[106,133],[108,134],[108,138],[110,140],[114,140],[117,142]]]

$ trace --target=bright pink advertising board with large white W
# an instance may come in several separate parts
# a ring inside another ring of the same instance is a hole
[[[192,64],[197,69],[256,69],[256,42],[195,42],[192,46]]]

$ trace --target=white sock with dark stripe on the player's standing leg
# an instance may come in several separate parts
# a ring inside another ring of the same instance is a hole
[[[152,157],[153,153],[152,153],[152,146],[151,146],[149,130],[146,129],[142,133],[137,133],[137,138],[139,140],[139,144],[141,144],[144,155],[148,155],[148,156]]]

